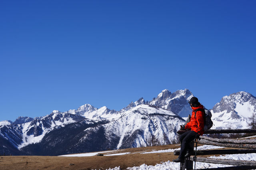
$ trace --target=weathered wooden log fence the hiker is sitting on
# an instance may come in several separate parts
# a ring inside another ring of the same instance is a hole
[[[186,132],[186,130],[179,130],[177,133],[182,134]],[[225,133],[255,133],[256,129],[214,129],[214,130],[206,130],[204,134],[225,134]],[[216,155],[216,154],[246,154],[246,153],[256,153],[256,139],[218,139],[218,138],[210,138],[207,136],[200,136],[201,140],[198,141],[199,144],[207,144],[214,146],[223,146],[230,148],[243,148],[243,149],[216,149],[216,150],[197,150],[196,151],[196,162],[206,162],[206,163],[214,163],[214,164],[226,164],[226,165],[234,165],[231,167],[224,168],[208,168],[210,170],[250,170],[256,169],[256,161],[248,161],[248,160],[228,160],[228,159],[215,159],[215,158],[204,158],[200,157],[200,155]],[[192,155],[195,155],[194,151],[194,141],[190,143],[190,152]],[[174,155],[179,155],[180,150],[174,151]],[[198,157],[199,156],[199,157]],[[180,163],[180,170],[191,170],[193,169],[193,158],[186,158],[185,163]]]

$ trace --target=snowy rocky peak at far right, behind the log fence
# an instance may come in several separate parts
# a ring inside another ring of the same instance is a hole
[[[215,129],[248,128],[248,118],[256,113],[256,97],[244,91],[224,96],[212,112]]]

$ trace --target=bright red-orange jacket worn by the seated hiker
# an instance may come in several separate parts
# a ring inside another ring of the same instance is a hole
[[[194,132],[199,133],[200,135],[204,134],[204,113],[202,111],[197,111],[196,112],[196,117],[195,117],[195,110],[196,109],[204,109],[203,105],[200,105],[199,107],[192,107],[192,116],[190,119],[190,122],[187,123],[185,126],[185,129],[190,129],[193,130]]]

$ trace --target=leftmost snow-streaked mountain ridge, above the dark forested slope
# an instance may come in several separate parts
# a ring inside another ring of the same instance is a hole
[[[44,135],[54,128],[84,119],[79,115],[54,111],[43,119],[33,119],[33,121],[22,124],[3,125],[0,127],[0,136],[9,140],[16,148],[22,148],[28,144],[40,142]]]

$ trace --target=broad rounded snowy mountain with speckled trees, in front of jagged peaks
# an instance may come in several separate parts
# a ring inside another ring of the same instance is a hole
[[[184,120],[171,111],[154,105],[138,105],[106,125],[106,137],[115,132],[118,144],[115,148],[150,146],[152,138],[158,144],[173,143],[176,131]],[[175,141],[177,142],[177,141]]]

